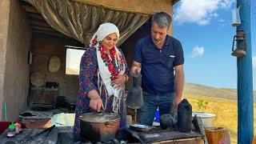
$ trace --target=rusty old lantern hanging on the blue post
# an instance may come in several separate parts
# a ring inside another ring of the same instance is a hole
[[[246,34],[243,30],[238,30],[234,35],[232,51],[232,55],[235,57],[246,56]]]

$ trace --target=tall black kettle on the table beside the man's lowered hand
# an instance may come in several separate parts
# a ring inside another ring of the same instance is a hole
[[[178,104],[178,131],[183,133],[189,133],[191,131],[192,124],[192,106],[184,98],[182,102]]]

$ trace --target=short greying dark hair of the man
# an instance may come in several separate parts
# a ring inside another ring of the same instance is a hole
[[[158,13],[153,15],[153,17],[151,19],[151,24],[153,22],[156,22],[157,25],[161,28],[167,27],[167,29],[169,29],[170,24],[172,22],[172,18],[170,17],[169,14],[167,14],[165,12],[158,12]]]

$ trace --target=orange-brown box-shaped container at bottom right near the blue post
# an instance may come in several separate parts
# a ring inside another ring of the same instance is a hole
[[[209,129],[206,129],[205,132],[206,132],[206,138],[208,143],[211,143],[211,144],[230,143],[229,131],[226,129],[223,129],[222,127],[209,128]]]

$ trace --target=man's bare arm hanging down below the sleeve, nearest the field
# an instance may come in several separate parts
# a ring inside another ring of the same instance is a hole
[[[174,66],[174,70],[175,70],[176,97],[174,98],[172,112],[177,110],[178,103],[182,101],[182,93],[183,93],[183,87],[184,87],[183,65]]]

